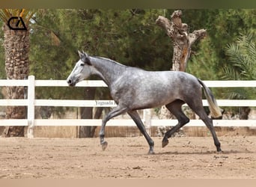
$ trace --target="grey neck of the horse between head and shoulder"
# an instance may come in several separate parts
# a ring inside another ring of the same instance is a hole
[[[96,70],[95,74],[100,76],[109,87],[126,69],[124,65],[104,58],[91,57],[91,64]]]

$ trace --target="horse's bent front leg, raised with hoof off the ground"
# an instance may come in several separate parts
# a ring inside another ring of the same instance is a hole
[[[103,150],[106,150],[106,147],[108,147],[108,142],[105,141],[105,139],[104,139],[106,123],[112,117],[116,117],[120,114],[123,114],[125,111],[127,111],[126,107],[118,105],[116,108],[114,108],[112,111],[110,111],[109,114],[107,114],[106,117],[103,119],[103,122],[101,124],[101,129],[100,129],[100,144],[101,144]]]

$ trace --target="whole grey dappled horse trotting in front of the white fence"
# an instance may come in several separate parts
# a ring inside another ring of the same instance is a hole
[[[137,110],[161,105],[165,105],[178,120],[177,125],[166,132],[162,139],[162,147],[165,147],[168,144],[168,138],[180,127],[189,123],[189,118],[181,109],[181,106],[187,103],[210,129],[216,149],[218,152],[221,151],[219,140],[213,128],[213,120],[207,117],[202,105],[201,86],[204,88],[204,93],[209,102],[212,117],[221,117],[222,109],[217,105],[210,89],[195,76],[178,71],[145,71],[124,66],[107,58],[92,57],[85,52],[79,52],[79,57],[80,60],[67,78],[68,85],[75,86],[76,83],[87,79],[91,75],[100,76],[109,86],[111,96],[118,104],[102,121],[100,144],[103,150],[108,145],[104,140],[106,122],[112,117],[127,112],[147,139],[150,146],[149,153],[154,153],[154,142],[147,134]]]

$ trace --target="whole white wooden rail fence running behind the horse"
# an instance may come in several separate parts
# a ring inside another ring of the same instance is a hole
[[[255,88],[256,81],[204,81],[210,88]],[[25,105],[28,107],[27,119],[0,119],[0,126],[28,126],[28,138],[34,137],[34,126],[100,126],[101,120],[77,120],[77,119],[34,119],[35,106],[70,106],[70,107],[115,107],[113,100],[64,100],[64,99],[35,99],[35,87],[67,87],[64,80],[35,80],[34,76],[28,76],[28,80],[1,80],[3,86],[25,86],[28,88],[27,99],[0,99],[0,105]],[[103,81],[83,81],[77,87],[107,87]],[[76,89],[76,88],[73,88]],[[256,106],[253,100],[228,100],[217,99],[219,106]],[[207,106],[207,100],[203,100]],[[153,120],[144,110],[143,120],[145,126],[174,126],[177,120]],[[109,120],[108,126],[135,126],[132,120]],[[213,120],[214,126],[256,126],[256,120]],[[186,126],[204,126],[201,120],[190,120]]]

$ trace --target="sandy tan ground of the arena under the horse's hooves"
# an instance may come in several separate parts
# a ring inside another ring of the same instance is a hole
[[[176,137],[147,155],[144,137],[0,138],[0,179],[256,178],[256,136],[222,136],[223,153],[211,137]]]

